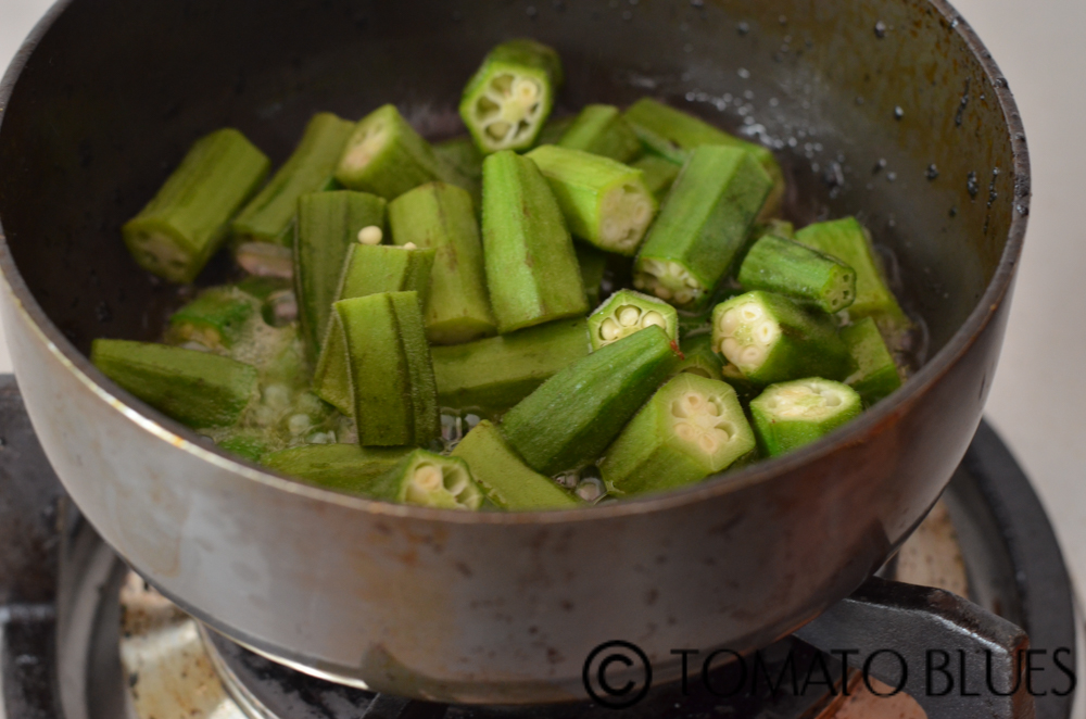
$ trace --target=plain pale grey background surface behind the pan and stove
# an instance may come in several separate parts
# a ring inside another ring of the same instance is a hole
[[[0,0],[7,66],[50,0]],[[1034,204],[988,419],[1024,466],[1086,594],[1086,0],[956,0],[999,61],[1033,153]],[[11,371],[0,337],[0,371]]]

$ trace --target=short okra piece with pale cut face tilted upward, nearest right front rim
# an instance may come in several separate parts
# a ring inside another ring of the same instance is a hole
[[[853,388],[817,377],[772,384],[750,403],[758,442],[771,457],[825,437],[861,412]]]

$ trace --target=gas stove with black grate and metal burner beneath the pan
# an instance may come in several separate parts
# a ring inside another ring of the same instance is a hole
[[[697,663],[705,671],[692,670],[689,682],[646,690],[620,711],[598,696],[557,707],[462,707],[375,694],[261,656],[148,586],[66,499],[14,379],[0,377],[0,719],[589,719],[616,712],[960,719],[983,715],[977,686],[960,679],[947,684],[955,677],[940,673],[947,663],[936,663],[933,674],[932,652],[937,660],[956,659],[932,646],[956,638],[988,647],[990,665],[990,647],[998,656],[1003,644],[1018,649],[1021,665],[1026,651],[1012,625],[1028,634],[1035,671],[1022,673],[1028,674],[1036,717],[1083,716],[1086,692],[1074,691],[1082,676],[1082,622],[1068,570],[1030,482],[989,427],[982,425],[944,497],[880,576],[796,635],[759,652],[753,665],[749,657]],[[980,619],[948,622],[948,613],[965,607],[954,595],[989,614],[969,605],[965,616]],[[886,697],[894,688],[880,681],[880,671],[869,676],[866,667],[848,664],[847,653],[831,648],[870,648],[880,641],[910,659],[923,655],[929,694],[933,676],[944,680],[935,690],[945,694],[942,703],[906,692]],[[958,677],[964,677],[964,653],[960,660]],[[810,681],[805,668],[815,666],[823,680]],[[588,696],[588,668],[585,683]],[[1023,705],[994,706],[987,716],[1021,716],[1014,712]]]

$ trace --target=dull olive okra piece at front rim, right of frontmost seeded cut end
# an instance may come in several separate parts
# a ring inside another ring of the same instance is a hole
[[[497,427],[485,419],[467,433],[452,456],[468,463],[487,499],[502,509],[542,512],[574,509],[584,504],[550,477],[526,465]]]

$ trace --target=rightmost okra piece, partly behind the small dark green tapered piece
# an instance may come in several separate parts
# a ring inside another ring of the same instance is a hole
[[[796,241],[836,257],[856,273],[856,301],[848,307],[849,317],[871,317],[887,336],[910,326],[909,318],[883,279],[882,268],[871,247],[871,237],[855,217],[805,227],[796,232]]]

